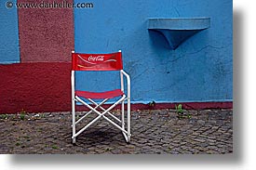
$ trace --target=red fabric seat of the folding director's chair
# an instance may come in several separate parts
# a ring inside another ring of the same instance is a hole
[[[120,89],[105,92],[75,91],[75,95],[83,98],[104,99],[122,96],[124,92]]]

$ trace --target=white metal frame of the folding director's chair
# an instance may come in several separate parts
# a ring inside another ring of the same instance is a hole
[[[119,50],[121,52],[121,50]],[[72,51],[74,53],[74,51]],[[73,136],[72,140],[73,143],[75,143],[75,137],[79,136],[82,132],[84,132],[88,127],[92,124],[94,124],[96,121],[98,121],[100,118],[105,119],[108,121],[110,124],[115,125],[119,130],[122,131],[123,136],[125,137],[126,141],[130,141],[130,77],[127,72],[120,70],[120,79],[121,79],[121,91],[124,93],[121,98],[119,98],[113,105],[111,105],[108,109],[104,109],[102,105],[108,101],[110,98],[105,98],[101,101],[101,103],[97,103],[91,98],[87,98],[89,102],[91,102],[92,105],[95,105],[95,107],[92,107],[89,105],[87,102],[85,102],[82,98],[79,98],[78,96],[75,95],[75,89],[74,89],[74,77],[75,77],[75,71],[72,70],[71,72],[71,87],[72,87],[72,127],[73,127]],[[124,91],[124,75],[127,79],[127,96]],[[126,123],[125,123],[125,101],[127,100],[127,129],[126,129]],[[85,115],[83,115],[80,119],[75,121],[75,102],[80,102],[90,111],[88,111]],[[112,114],[110,111],[115,108],[117,104],[121,103],[121,120],[117,118],[114,114]],[[101,111],[98,111],[101,109]],[[95,112],[98,114],[98,116],[93,119],[91,122],[89,122],[87,125],[85,125],[82,129],[80,129],[78,132],[76,132],[76,124],[80,123],[82,120],[84,120],[90,113]],[[106,117],[106,114],[110,115],[112,118],[115,119],[118,123],[116,124],[114,121]]]

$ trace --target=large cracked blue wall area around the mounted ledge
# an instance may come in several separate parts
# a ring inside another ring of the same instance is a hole
[[[233,100],[232,0],[90,2],[93,8],[74,9],[75,51],[122,49],[124,68],[131,76],[133,103]],[[176,50],[169,49],[161,34],[147,30],[149,18],[195,17],[209,17],[210,28],[196,33]],[[100,76],[101,82],[92,78],[94,75]],[[107,84],[117,87],[119,83],[102,72],[83,76],[78,73],[77,89],[101,91],[110,89],[106,89]]]

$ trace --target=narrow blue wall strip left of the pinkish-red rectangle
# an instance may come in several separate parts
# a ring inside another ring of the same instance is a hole
[[[20,62],[17,8],[6,3],[0,2],[0,64]]]

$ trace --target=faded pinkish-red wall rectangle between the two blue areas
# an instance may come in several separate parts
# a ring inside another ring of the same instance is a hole
[[[73,0],[66,1],[73,3]],[[18,3],[40,4],[42,0],[18,0]],[[18,14],[21,62],[71,61],[70,53],[74,49],[72,8],[19,8]]]

